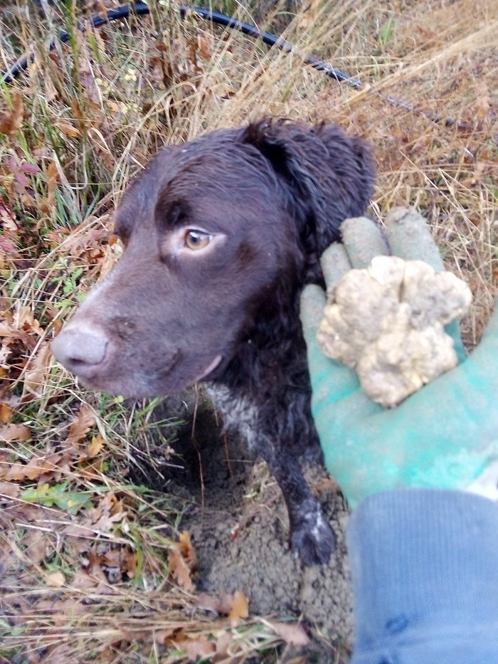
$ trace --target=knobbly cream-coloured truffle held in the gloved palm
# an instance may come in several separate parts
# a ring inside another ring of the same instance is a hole
[[[328,294],[317,341],[354,369],[362,389],[396,406],[457,364],[444,325],[470,305],[470,288],[421,260],[377,256],[350,270]]]

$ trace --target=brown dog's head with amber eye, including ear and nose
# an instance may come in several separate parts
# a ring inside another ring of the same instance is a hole
[[[124,396],[221,377],[255,330],[266,326],[272,343],[275,310],[295,317],[300,288],[319,279],[341,221],[364,211],[372,179],[364,143],[333,125],[265,120],[164,149],[124,194],[124,254],[56,337],[55,356]]]

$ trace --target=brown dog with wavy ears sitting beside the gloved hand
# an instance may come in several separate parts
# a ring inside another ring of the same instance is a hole
[[[317,458],[300,292],[364,213],[373,160],[336,125],[265,118],[167,146],[115,214],[116,267],[54,339],[83,383],[124,397],[204,381],[282,489],[292,551],[326,563],[334,535],[302,474]]]

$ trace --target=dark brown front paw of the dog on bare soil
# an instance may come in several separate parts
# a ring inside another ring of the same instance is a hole
[[[335,537],[322,512],[317,510],[308,514],[292,529],[291,545],[292,552],[305,566],[329,562],[335,548]]]

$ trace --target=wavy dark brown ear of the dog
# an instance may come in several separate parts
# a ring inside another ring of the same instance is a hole
[[[339,240],[344,219],[364,214],[374,168],[361,139],[337,125],[261,120],[245,127],[242,142],[257,147],[280,176],[309,258]]]

